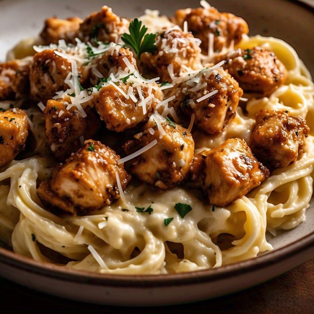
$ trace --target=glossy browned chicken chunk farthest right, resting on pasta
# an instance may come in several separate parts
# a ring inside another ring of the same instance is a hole
[[[310,128],[300,117],[261,110],[256,114],[249,146],[256,158],[273,170],[300,159],[309,132]]]

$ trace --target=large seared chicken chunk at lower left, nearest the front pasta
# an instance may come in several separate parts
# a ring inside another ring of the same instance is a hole
[[[37,189],[42,203],[71,214],[85,213],[109,205],[120,197],[116,175],[123,190],[131,176],[118,165],[120,157],[100,142],[85,141],[83,148],[64,165],[53,170],[51,178]]]

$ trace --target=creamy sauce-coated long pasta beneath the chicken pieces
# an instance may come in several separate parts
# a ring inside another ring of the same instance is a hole
[[[142,17],[146,24],[151,21],[149,27],[154,30],[158,28],[156,14],[149,11]],[[161,19],[161,23],[173,27],[165,17]],[[243,138],[248,143],[258,111],[287,110],[292,116],[304,118],[310,127],[299,160],[274,170],[260,186],[225,207],[206,204],[198,191],[185,187],[156,192],[144,183],[131,183],[124,192],[125,203],[120,198],[82,216],[47,211],[37,196],[38,182],[49,178],[55,161],[47,156],[14,160],[0,173],[0,239],[12,246],[15,253],[37,261],[111,274],[217,268],[271,251],[266,233],[276,236],[281,230],[302,223],[312,197],[314,85],[295,50],[284,41],[244,35],[235,48],[255,46],[272,50],[283,62],[288,70],[285,84],[268,97],[245,94],[248,100],[237,108],[236,117],[221,133],[206,135],[194,131],[195,154],[229,138]],[[231,51],[232,47],[225,49]],[[9,102],[2,102],[1,107],[9,108]],[[27,115],[29,121],[33,116],[30,129],[35,135],[35,153],[42,153],[41,111],[28,109]],[[191,206],[184,219],[175,210],[176,203]],[[154,208],[152,214],[136,209],[149,206]],[[165,219],[171,219],[168,225]],[[57,258],[60,256],[63,262]]]

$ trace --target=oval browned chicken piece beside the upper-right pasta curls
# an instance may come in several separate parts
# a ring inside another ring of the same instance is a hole
[[[242,89],[270,95],[283,85],[288,72],[272,51],[259,47],[237,49],[223,56],[217,56],[215,62],[226,60],[223,68],[239,82]]]

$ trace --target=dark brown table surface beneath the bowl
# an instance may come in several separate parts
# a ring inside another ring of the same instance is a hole
[[[256,287],[180,306],[125,308],[69,301],[0,279],[0,313],[313,314],[314,258]]]

